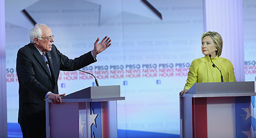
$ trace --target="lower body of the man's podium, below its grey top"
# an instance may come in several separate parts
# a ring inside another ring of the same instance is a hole
[[[47,138],[117,138],[117,101],[46,103]]]

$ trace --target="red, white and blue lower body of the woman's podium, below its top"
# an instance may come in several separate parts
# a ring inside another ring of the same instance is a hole
[[[251,98],[180,97],[181,138],[253,138]]]

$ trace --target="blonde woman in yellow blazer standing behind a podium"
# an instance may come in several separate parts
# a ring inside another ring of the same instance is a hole
[[[205,32],[202,37],[202,53],[205,55],[192,61],[189,68],[187,83],[180,95],[186,93],[196,82],[221,82],[221,70],[223,81],[236,81],[232,63],[219,57],[222,51],[222,38],[217,32]],[[211,59],[210,56],[211,55]],[[212,62],[218,67],[213,67]]]

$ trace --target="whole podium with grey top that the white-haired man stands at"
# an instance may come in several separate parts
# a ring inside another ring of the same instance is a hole
[[[125,100],[120,86],[88,87],[62,104],[46,99],[46,137],[117,138],[117,100]]]

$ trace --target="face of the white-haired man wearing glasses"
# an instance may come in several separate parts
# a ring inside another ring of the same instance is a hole
[[[44,37],[44,38],[42,38],[43,40],[38,40],[38,39],[35,40],[36,47],[42,52],[51,51],[52,45],[53,45],[52,42],[54,42],[54,39],[53,38],[52,39],[50,38],[51,40],[45,39],[45,38],[49,38],[51,36],[53,36],[52,30],[49,27],[43,26],[42,27],[42,37]]]

